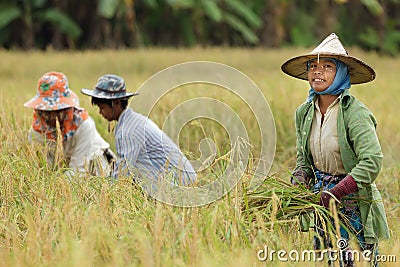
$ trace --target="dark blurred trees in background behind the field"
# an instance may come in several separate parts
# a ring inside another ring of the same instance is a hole
[[[4,49],[348,46],[400,52],[400,0],[0,0]]]

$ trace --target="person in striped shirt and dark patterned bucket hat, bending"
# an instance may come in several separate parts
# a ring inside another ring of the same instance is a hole
[[[95,88],[81,89],[92,97],[92,104],[109,122],[117,121],[114,130],[118,160],[113,177],[167,178],[176,185],[190,185],[196,180],[189,160],[172,139],[151,119],[128,107],[130,97],[123,78],[107,74],[99,78]]]

